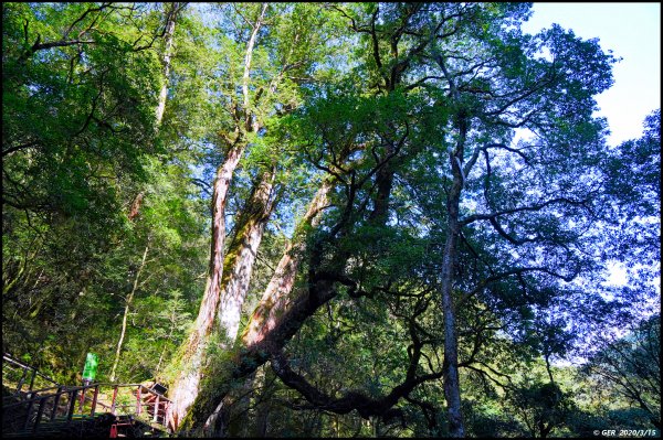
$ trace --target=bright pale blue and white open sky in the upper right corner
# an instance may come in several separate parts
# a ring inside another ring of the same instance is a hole
[[[604,51],[623,60],[614,85],[597,97],[608,118],[610,144],[639,138],[642,121],[661,107],[661,3],[538,3],[523,30],[536,33],[558,23],[583,39],[598,37]]]

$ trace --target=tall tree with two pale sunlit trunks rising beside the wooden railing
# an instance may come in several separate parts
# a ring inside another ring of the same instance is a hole
[[[242,304],[267,219],[288,185],[287,163],[278,146],[265,141],[269,125],[295,109],[313,79],[317,62],[332,45],[323,43],[329,24],[318,8],[307,4],[224,4],[220,13],[219,52],[211,99],[224,115],[211,136],[221,153],[212,184],[211,255],[198,318],[175,364],[181,374],[171,395],[169,425],[177,428],[198,395],[209,364],[204,355],[211,335],[230,351],[236,337]],[[239,202],[227,243],[225,212],[235,173],[252,175],[245,200]],[[281,189],[281,190],[280,190]],[[209,416],[209,414],[207,415]],[[206,417],[207,417],[206,416]]]

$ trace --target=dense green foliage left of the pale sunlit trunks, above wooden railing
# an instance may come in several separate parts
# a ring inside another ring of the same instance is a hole
[[[65,384],[78,382],[87,351],[101,355],[101,379],[109,374],[146,245],[158,259],[139,299],[181,288],[191,310],[204,270],[199,202],[155,126],[161,17],[147,4],[3,7],[3,346]],[[135,330],[129,356],[145,350]],[[156,362],[120,376],[149,377]]]

